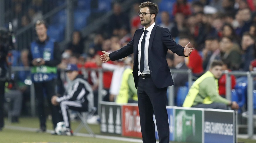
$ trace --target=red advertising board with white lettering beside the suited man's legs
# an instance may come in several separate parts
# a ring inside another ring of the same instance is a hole
[[[141,137],[139,107],[133,105],[123,105],[123,136]]]

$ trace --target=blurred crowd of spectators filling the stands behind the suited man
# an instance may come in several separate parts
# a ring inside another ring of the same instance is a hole
[[[26,13],[20,13],[23,0],[15,1],[13,17],[14,27],[23,27],[32,21],[42,18],[45,11],[42,0],[32,0]],[[165,0],[157,1],[164,3]],[[120,2],[120,1],[119,1]],[[144,1],[140,1],[144,2]],[[58,65],[58,94],[62,95],[68,84],[67,77],[62,72],[68,63],[76,64],[94,90],[94,105],[98,103],[99,72],[93,69],[103,69],[103,91],[100,91],[104,101],[114,102],[119,94],[122,73],[126,68],[132,68],[132,57],[118,61],[102,63],[101,50],[111,53],[125,46],[132,38],[140,25],[140,2],[134,3],[130,10],[123,11],[120,3],[113,2],[111,15],[96,33],[90,37],[93,40],[82,37],[80,31],[72,33],[71,41],[65,46],[61,55],[61,63]],[[48,4],[50,5],[50,4]],[[159,9],[156,24],[167,27],[174,40],[185,47],[191,42],[194,51],[189,57],[180,57],[167,52],[169,68],[191,69],[194,78],[200,77],[209,69],[209,64],[215,60],[222,60],[226,70],[251,71],[256,70],[256,1],[255,0],[177,0],[173,3],[172,12]],[[18,20],[20,19],[20,20]],[[16,21],[17,24],[15,23]],[[50,36],[50,35],[49,35]],[[17,66],[29,66],[26,55],[27,50],[21,52],[21,62]],[[177,87],[184,86],[187,75],[174,73],[175,95]],[[29,72],[20,72],[18,81],[24,83]],[[181,78],[182,77],[182,78]],[[232,77],[235,78],[235,77]],[[225,78],[222,77],[223,80]],[[223,85],[223,80],[219,84]],[[221,83],[222,82],[222,83]],[[226,81],[224,81],[225,85]],[[232,88],[235,80],[232,79]],[[24,85],[23,85],[24,86]],[[20,86],[23,97],[29,97],[29,88]],[[223,86],[224,88],[225,86]],[[220,93],[225,97],[225,90]],[[26,92],[25,92],[26,91]],[[224,92],[224,93],[223,93]],[[29,100],[23,98],[23,100]],[[25,106],[25,105],[24,105]]]

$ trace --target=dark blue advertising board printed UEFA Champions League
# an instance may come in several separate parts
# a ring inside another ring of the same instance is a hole
[[[205,110],[204,141],[207,143],[234,143],[235,112],[227,110]]]

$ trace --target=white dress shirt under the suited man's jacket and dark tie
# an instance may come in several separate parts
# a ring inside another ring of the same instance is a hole
[[[143,72],[141,73],[140,72],[140,70],[138,71],[138,76],[140,75],[140,74],[150,74],[150,71],[149,71],[149,67],[148,67],[148,46],[149,46],[149,38],[150,38],[150,34],[151,34],[151,31],[152,31],[152,29],[153,29],[153,27],[155,26],[155,23],[153,23],[152,25],[150,25],[150,27],[148,27],[148,29],[145,29],[145,27],[144,27],[144,31],[145,30],[147,30],[148,32],[147,32],[147,35],[146,35],[146,38],[145,38],[145,49],[144,49],[144,57],[145,57],[145,59],[144,59],[144,70],[143,70]],[[140,53],[140,49],[141,49],[141,47],[140,47],[140,45],[141,45],[141,41],[142,41],[142,39],[143,39],[143,36],[144,36],[144,31],[143,31],[143,33],[141,34],[141,36],[140,36],[140,41],[139,41],[139,45],[138,45],[138,68],[140,69],[140,55],[141,55],[141,53]]]

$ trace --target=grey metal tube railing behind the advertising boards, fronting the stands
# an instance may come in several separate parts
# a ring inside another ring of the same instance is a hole
[[[21,71],[21,70],[30,70],[30,68],[24,68],[24,67],[13,67],[13,71]],[[103,81],[103,72],[106,70],[103,70],[102,68],[98,69],[82,69],[86,72],[83,72],[87,74],[88,71],[95,70],[98,72],[99,75],[99,81]],[[188,74],[188,88],[192,85],[192,72],[191,70],[177,70],[177,69],[170,69],[171,73],[181,73],[181,74]],[[226,74],[226,98],[228,100],[231,100],[231,78],[230,75],[235,76],[247,76],[247,111],[248,111],[248,138],[253,137],[253,76],[256,76],[256,72],[241,72],[241,71],[224,71]],[[85,75],[86,76],[86,75]],[[31,89],[31,95],[30,95],[30,104],[31,104],[31,114],[32,116],[35,116],[35,93],[34,93],[34,87],[33,84],[30,86]],[[103,99],[102,95],[102,89],[103,89],[103,82],[99,82],[98,85],[98,103],[101,103]],[[169,105],[174,105],[174,86],[169,86]],[[98,114],[101,114],[101,104],[98,104]]]

